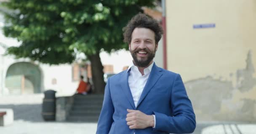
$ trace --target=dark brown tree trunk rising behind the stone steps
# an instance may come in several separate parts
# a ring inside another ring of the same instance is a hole
[[[102,94],[104,93],[105,82],[103,78],[104,72],[101,63],[101,58],[99,57],[99,53],[88,56],[88,58],[91,61],[91,72],[93,78],[94,93]]]

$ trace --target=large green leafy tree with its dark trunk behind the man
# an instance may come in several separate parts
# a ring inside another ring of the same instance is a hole
[[[96,93],[104,92],[99,53],[128,48],[122,28],[154,0],[7,0],[5,36],[21,41],[9,47],[16,58],[49,64],[72,63],[77,50],[91,61]]]

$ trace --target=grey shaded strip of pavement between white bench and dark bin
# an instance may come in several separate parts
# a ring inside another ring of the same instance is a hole
[[[22,105],[0,105],[0,108],[13,109],[14,121],[43,122],[42,104],[22,104]]]

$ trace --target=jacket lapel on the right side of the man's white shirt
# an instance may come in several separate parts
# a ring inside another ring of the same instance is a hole
[[[139,104],[144,100],[144,98],[147,96],[147,94],[149,93],[149,91],[152,89],[152,87],[155,85],[155,83],[157,82],[157,80],[160,78],[161,75],[163,75],[161,73],[162,70],[160,70],[155,63],[153,64],[152,70],[150,72],[149,78],[147,80],[147,83],[141,93],[141,97],[139,98],[139,102],[137,105],[137,108],[139,106]]]

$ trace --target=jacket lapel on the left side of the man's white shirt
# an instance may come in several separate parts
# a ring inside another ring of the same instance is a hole
[[[131,90],[130,90],[130,87],[129,87],[129,84],[128,84],[129,73],[130,72],[127,72],[127,73],[124,72],[123,73],[123,77],[122,77],[123,79],[120,80],[120,84],[121,84],[121,87],[123,89],[123,92],[125,93],[126,98],[131,103],[131,106],[133,107],[133,109],[136,109],[134,101],[133,101],[133,95],[131,94]]]

